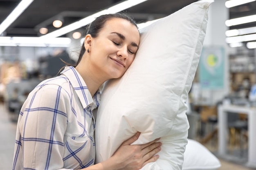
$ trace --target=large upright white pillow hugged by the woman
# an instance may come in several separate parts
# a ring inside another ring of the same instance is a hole
[[[137,131],[134,144],[161,137],[155,163],[143,170],[180,170],[189,122],[185,104],[202,51],[213,0],[200,0],[141,29],[139,50],[120,79],[106,82],[98,108],[96,163]]]

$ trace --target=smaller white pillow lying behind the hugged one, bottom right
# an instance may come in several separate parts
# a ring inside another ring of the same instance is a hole
[[[182,170],[217,170],[221,164],[207,148],[197,141],[188,139]]]

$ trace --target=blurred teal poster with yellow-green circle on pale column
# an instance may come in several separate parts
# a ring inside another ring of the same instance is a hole
[[[203,47],[199,62],[200,87],[224,88],[225,51],[223,47]]]

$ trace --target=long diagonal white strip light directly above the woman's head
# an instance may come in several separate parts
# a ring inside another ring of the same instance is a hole
[[[69,24],[67,26],[63,26],[62,28],[60,28],[56,31],[52,31],[51,33],[48,33],[48,34],[43,35],[41,37],[45,37],[45,38],[59,37],[61,35],[64,35],[66,33],[74,31],[76,29],[79,29],[79,28],[81,28],[81,27],[83,27],[87,24],[90,24],[92,21],[95,20],[95,18],[97,18],[100,15],[108,14],[108,13],[117,13],[117,12],[123,11],[125,9],[133,7],[137,4],[140,4],[140,3],[145,2],[145,1],[147,1],[147,0],[126,0],[126,1],[120,2],[119,4],[116,4],[112,7],[109,7],[108,9],[104,9],[102,11],[94,13],[94,14],[88,16],[88,17],[85,17],[85,18],[83,18],[79,21],[76,21],[72,24]]]

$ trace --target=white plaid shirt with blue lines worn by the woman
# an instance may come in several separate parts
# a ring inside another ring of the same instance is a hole
[[[94,164],[99,91],[91,96],[72,66],[31,91],[18,118],[13,170],[81,169]]]

